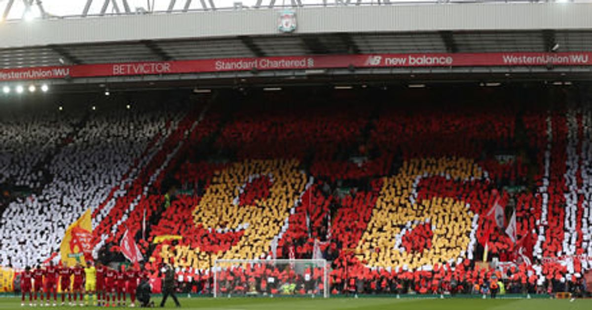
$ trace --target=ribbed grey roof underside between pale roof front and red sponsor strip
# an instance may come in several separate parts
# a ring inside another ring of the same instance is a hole
[[[0,49],[0,69],[70,64],[312,54],[494,53],[592,50],[592,30],[341,33],[201,40],[141,40]]]

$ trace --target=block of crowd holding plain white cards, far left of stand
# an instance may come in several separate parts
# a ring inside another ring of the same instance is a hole
[[[46,112],[38,111],[39,114]],[[3,138],[14,141],[7,145],[19,148],[17,154],[36,154],[42,150],[18,143],[30,138],[27,127],[40,128],[38,131],[52,137],[54,134],[55,137],[68,137],[44,164],[44,169],[51,175],[50,180],[38,192],[10,202],[2,214],[0,261],[15,267],[40,263],[57,251],[67,226],[86,209],[98,208],[113,188],[123,187],[121,182],[124,175],[133,170],[134,160],[140,158],[153,137],[165,131],[168,122],[160,111],[123,108],[90,112],[79,128],[70,125],[79,119],[66,115],[49,124],[29,122],[27,116],[22,121],[15,120],[14,126],[20,124],[22,128]],[[33,137],[39,140],[37,143],[52,141]],[[24,165],[30,164],[34,163]],[[37,183],[26,185],[33,188]],[[116,192],[124,194],[123,189]],[[100,220],[101,217],[96,218],[95,224]]]

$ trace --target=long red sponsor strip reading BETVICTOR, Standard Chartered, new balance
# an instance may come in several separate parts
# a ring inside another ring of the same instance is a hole
[[[0,80],[168,75],[249,70],[314,70],[372,67],[591,66],[592,53],[416,53],[279,56],[78,64],[0,70]]]

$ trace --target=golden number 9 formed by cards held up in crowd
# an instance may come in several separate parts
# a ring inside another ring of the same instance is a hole
[[[163,246],[153,263],[175,257],[179,266],[209,269],[216,259],[267,257],[307,186],[307,177],[297,166],[295,160],[249,160],[221,170],[195,206],[192,218],[198,230],[214,234],[214,240],[224,238],[208,245],[209,251],[201,248],[211,239],[184,238],[175,251]],[[257,197],[252,196],[255,192]],[[175,215],[181,220],[181,214]]]

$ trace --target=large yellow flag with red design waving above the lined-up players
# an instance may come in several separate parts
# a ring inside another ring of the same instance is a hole
[[[91,210],[88,209],[66,230],[60,245],[63,266],[75,266],[76,263],[86,266],[86,261],[92,260],[91,238]]]

